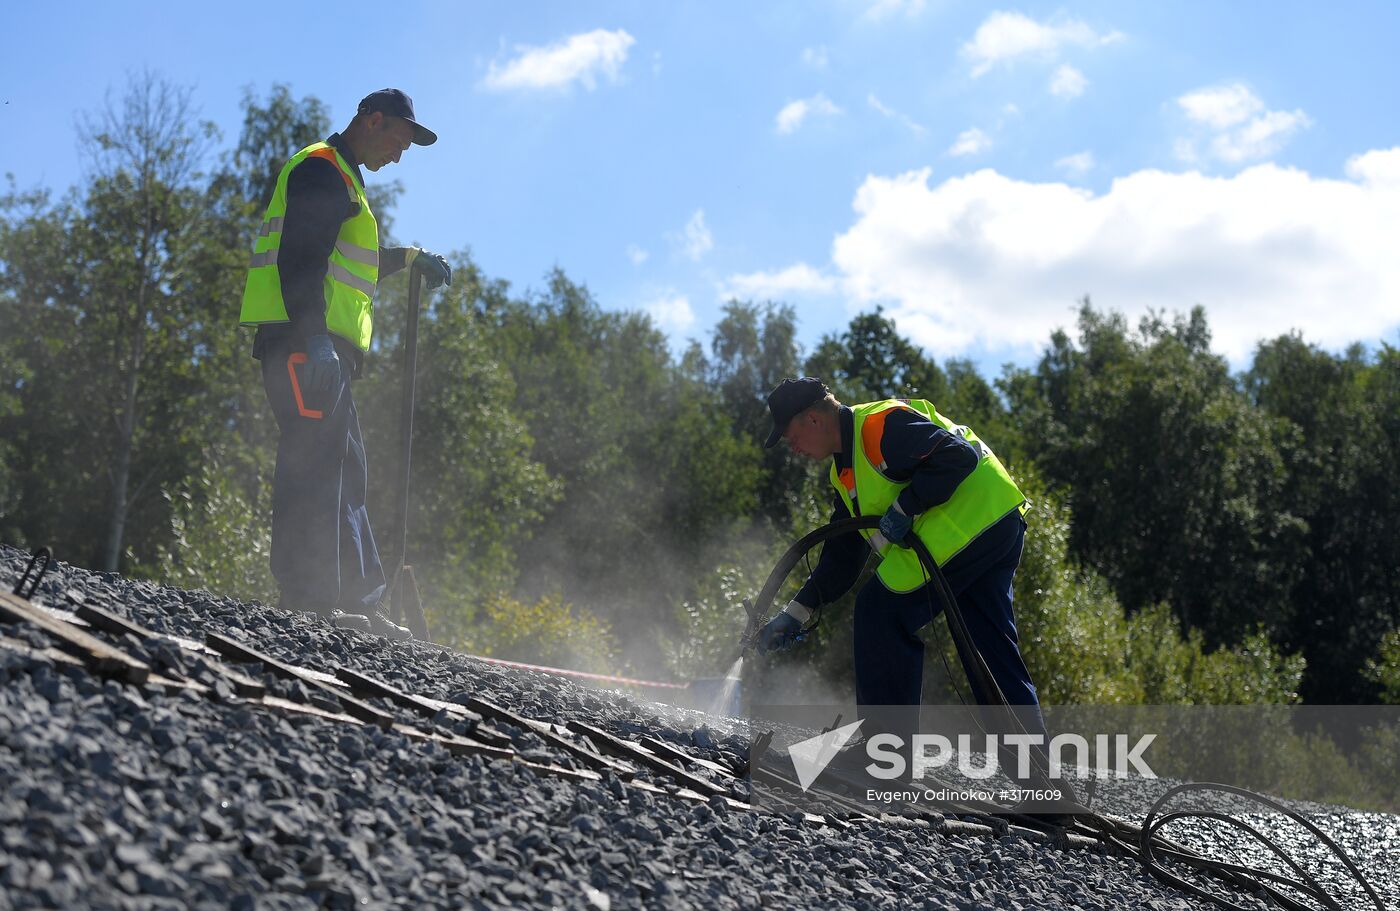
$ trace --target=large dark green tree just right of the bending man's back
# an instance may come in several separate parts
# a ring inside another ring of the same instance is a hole
[[[1071,553],[1131,610],[1165,600],[1207,642],[1289,621],[1303,523],[1282,501],[1292,428],[1254,409],[1210,353],[1204,312],[1168,323],[1088,302],[1004,388],[1015,430],[1074,511]]]

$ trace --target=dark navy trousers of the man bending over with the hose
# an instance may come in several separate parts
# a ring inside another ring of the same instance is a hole
[[[1040,701],[1021,656],[1011,612],[1011,579],[1025,540],[1025,521],[1018,514],[1008,515],[951,560],[944,577],[958,599],[973,645],[986,659],[1007,702],[1032,707],[1023,718],[1026,730],[1044,735]],[[855,596],[855,698],[862,709],[923,701],[924,644],[914,634],[942,610],[937,589],[928,585],[896,593],[878,578],[865,584]],[[973,697],[980,704],[991,701],[976,683]]]

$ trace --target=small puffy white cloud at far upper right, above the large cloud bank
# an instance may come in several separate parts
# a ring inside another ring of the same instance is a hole
[[[1239,83],[1198,88],[1177,98],[1176,104],[1208,134],[1210,154],[1229,164],[1273,155],[1294,133],[1312,126],[1301,109],[1267,111],[1264,102]],[[1175,150],[1182,161],[1200,160],[1194,139],[1176,140]]]

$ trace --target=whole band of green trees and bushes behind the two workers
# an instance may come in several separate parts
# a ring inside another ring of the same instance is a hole
[[[272,598],[276,424],[237,326],[252,236],[325,105],[244,97],[228,148],[153,74],[81,120],[66,192],[0,195],[0,539],[185,586]],[[396,183],[371,200],[392,243]],[[406,558],[455,645],[594,669],[718,673],[785,544],[826,521],[826,466],[763,449],[769,390],[924,397],[1030,494],[1016,578],[1049,701],[1400,698],[1400,351],[1298,336],[1232,375],[1205,313],[1135,327],[1084,302],[1075,334],[988,382],[883,311],[798,343],[781,302],[729,301],[679,355],[643,313],[556,269],[517,291],[470,238],[420,315]],[[389,568],[407,281],[375,299],[356,397]],[[788,591],[799,579],[788,582]],[[850,687],[847,596],[766,683]],[[937,645],[937,642],[935,642]],[[946,644],[945,644],[946,645]],[[1362,663],[1369,665],[1362,669]],[[930,679],[941,686],[938,665]],[[1305,670],[1306,668],[1306,670]]]

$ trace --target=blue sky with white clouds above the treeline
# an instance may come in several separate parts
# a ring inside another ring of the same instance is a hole
[[[342,126],[384,85],[441,140],[379,172],[400,239],[538,288],[561,266],[676,346],[731,294],[811,347],[875,305],[939,360],[1033,361],[1075,299],[1203,304],[1217,350],[1400,341],[1400,6],[20,4],[0,171],[81,178],[126,73]],[[288,150],[291,151],[291,150]],[[371,175],[371,181],[377,179]],[[235,302],[230,302],[235,306]],[[232,311],[231,311],[232,318]]]

